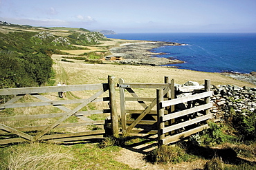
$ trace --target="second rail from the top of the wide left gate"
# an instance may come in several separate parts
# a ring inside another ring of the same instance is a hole
[[[97,98],[93,100],[93,102],[107,101],[107,99],[108,98]],[[10,104],[6,103],[6,104],[0,105],[0,109],[16,108],[16,107],[35,107],[35,106],[46,106],[46,105],[60,106],[60,105],[67,105],[67,104],[83,103],[85,100],[87,99],[83,98],[83,99],[77,99],[77,100],[56,100],[56,101],[50,100],[50,101],[33,102],[33,103],[10,103]]]

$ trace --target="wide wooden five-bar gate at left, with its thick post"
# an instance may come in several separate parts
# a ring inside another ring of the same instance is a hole
[[[89,98],[74,99],[74,100],[51,100],[46,98],[46,93],[57,92],[73,92],[73,91],[92,91],[95,90]],[[109,91],[109,96],[100,97],[104,92]],[[105,120],[91,120],[87,116],[92,114],[111,114],[111,132],[114,135],[118,134],[118,119],[116,112],[116,99],[115,88],[113,84],[113,76],[109,76],[109,82],[103,84],[93,85],[66,85],[66,86],[54,86],[54,87],[26,87],[26,88],[13,88],[13,89],[0,89],[0,95],[11,95],[13,98],[8,102],[0,105],[0,145],[5,145],[13,142],[25,142],[25,141],[39,141],[48,140],[49,142],[67,142],[74,140],[89,140],[92,138],[103,138],[106,133],[104,128],[98,128],[99,125],[105,125]],[[26,95],[33,96],[42,100],[40,102],[19,102],[21,98]],[[89,103],[95,102],[107,102],[110,103],[109,107],[102,110],[83,111]],[[75,108],[70,109],[64,105],[77,105]],[[62,113],[50,113],[50,114],[36,114],[22,116],[3,116],[4,109],[16,108],[16,107],[39,107],[51,105],[57,107],[63,111]],[[66,120],[75,117],[78,121],[70,123]],[[33,124],[39,119],[51,119],[49,125],[39,126],[26,126],[19,127],[22,120]],[[34,120],[32,122],[32,120]],[[31,122],[30,122],[31,121]],[[87,125],[95,125],[95,130],[88,130],[86,128],[80,128]],[[65,128],[80,128],[77,132],[66,133]],[[83,130],[84,129],[84,130]]]

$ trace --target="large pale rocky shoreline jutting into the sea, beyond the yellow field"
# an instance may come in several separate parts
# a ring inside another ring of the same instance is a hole
[[[132,65],[167,65],[184,63],[184,61],[176,59],[167,59],[161,57],[154,57],[163,55],[165,53],[152,52],[150,50],[162,46],[183,45],[181,43],[170,43],[162,41],[147,41],[140,43],[126,43],[120,47],[113,47],[110,49],[112,55],[107,56],[106,59],[113,59],[116,63],[132,64]]]

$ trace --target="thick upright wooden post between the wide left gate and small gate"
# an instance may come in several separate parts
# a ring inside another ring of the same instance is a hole
[[[116,110],[116,90],[114,84],[114,76],[108,76],[109,83],[109,100],[111,109],[111,129],[113,136],[118,136],[118,112]]]

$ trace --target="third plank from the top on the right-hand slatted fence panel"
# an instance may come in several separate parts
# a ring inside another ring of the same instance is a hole
[[[207,115],[201,116],[201,117],[199,117],[199,118],[193,118],[192,120],[188,120],[188,121],[185,121],[185,122],[183,122],[183,123],[179,123],[179,124],[176,124],[176,125],[172,125],[172,126],[170,126],[170,127],[165,127],[165,128],[163,129],[163,134],[165,134],[165,133],[167,133],[167,132],[169,132],[169,131],[174,131],[174,130],[176,130],[176,129],[180,129],[180,128],[182,128],[182,127],[187,127],[187,126],[192,125],[192,124],[194,124],[194,123],[199,123],[199,122],[201,122],[201,121],[203,121],[203,120],[208,120],[209,118],[212,118],[212,115],[211,115],[211,114],[207,114]]]

